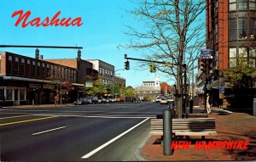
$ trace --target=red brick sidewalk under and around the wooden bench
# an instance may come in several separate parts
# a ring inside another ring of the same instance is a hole
[[[201,108],[195,108],[201,109]],[[203,110],[203,109],[201,109]],[[256,117],[212,108],[209,117],[216,118],[217,137],[206,137],[206,141],[249,141],[245,149],[194,149],[195,141],[201,137],[190,137],[189,149],[174,150],[172,156],[163,155],[160,136],[149,136],[140,149],[140,155],[148,161],[172,160],[256,160]],[[194,141],[194,142],[193,142]]]

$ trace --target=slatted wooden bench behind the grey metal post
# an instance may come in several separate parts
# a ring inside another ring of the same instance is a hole
[[[174,136],[217,136],[215,118],[172,119]],[[163,119],[151,119],[150,135],[163,136]]]

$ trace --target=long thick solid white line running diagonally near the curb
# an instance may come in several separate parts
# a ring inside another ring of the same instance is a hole
[[[120,137],[123,137],[125,134],[127,134],[128,132],[132,131],[133,129],[135,129],[137,126],[140,126],[142,125],[145,121],[149,120],[149,118],[147,118],[146,120],[143,120],[142,122],[138,123],[136,126],[132,126],[129,130],[119,134],[119,136],[117,137],[114,137],[112,140],[104,143],[102,146],[94,149],[93,151],[91,151],[90,153],[88,154],[85,154],[82,159],[87,159],[87,158],[90,158],[90,156],[92,156],[93,154],[96,154],[96,152],[100,151],[102,148],[105,148],[106,146],[108,146],[110,143],[116,141],[117,139],[119,139]]]

